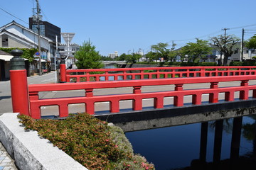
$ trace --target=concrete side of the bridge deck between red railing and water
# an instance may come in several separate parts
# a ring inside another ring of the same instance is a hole
[[[95,115],[95,117],[114,123],[114,125],[122,128],[124,132],[131,132],[235,118],[244,115],[253,115],[255,113],[256,99],[250,99],[247,101],[209,103],[201,106],[161,108],[154,111],[112,113],[110,115]]]

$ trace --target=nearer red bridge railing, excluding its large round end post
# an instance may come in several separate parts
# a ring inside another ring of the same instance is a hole
[[[245,73],[246,74],[246,73]],[[110,102],[110,113],[118,113],[120,111],[119,102],[132,100],[132,108],[134,111],[142,110],[142,100],[145,98],[154,99],[154,108],[164,107],[164,98],[174,97],[174,106],[183,106],[184,96],[192,96],[192,104],[200,105],[202,103],[202,95],[209,94],[208,101],[210,103],[218,103],[220,93],[225,94],[225,101],[233,101],[235,92],[238,91],[241,100],[247,100],[249,91],[252,91],[252,98],[256,98],[256,86],[249,85],[249,81],[255,80],[256,75],[245,76],[226,76],[226,77],[190,77],[179,79],[141,79],[133,81],[101,81],[101,82],[81,82],[78,84],[37,84],[29,85],[29,104],[30,114],[32,118],[41,118],[41,106],[58,106],[60,117],[68,116],[68,105],[75,103],[85,103],[85,112],[95,114],[95,103]],[[219,87],[220,82],[240,81],[240,86]],[[209,83],[210,86],[204,89],[183,90],[184,84],[203,84]],[[163,86],[173,84],[174,90],[161,92],[142,93],[143,86]],[[114,94],[94,96],[95,89],[115,89],[121,87],[132,87],[131,94]],[[85,96],[67,97],[67,98],[50,98],[39,99],[38,94],[41,91],[70,91],[84,90]]]

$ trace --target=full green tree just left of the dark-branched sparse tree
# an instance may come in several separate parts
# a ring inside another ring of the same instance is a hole
[[[205,57],[212,50],[207,40],[199,40],[198,38],[196,38],[196,42],[188,42],[182,49],[183,52],[188,55],[188,60],[192,60],[192,62],[196,62],[199,58]]]

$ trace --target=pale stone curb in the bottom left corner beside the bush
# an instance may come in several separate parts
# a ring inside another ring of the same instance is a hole
[[[87,170],[48,140],[40,138],[38,132],[26,132],[18,123],[17,115],[4,113],[0,116],[0,140],[18,169]]]

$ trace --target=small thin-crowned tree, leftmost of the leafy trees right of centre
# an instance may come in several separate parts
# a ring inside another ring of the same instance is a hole
[[[169,44],[167,42],[159,42],[157,45],[151,45],[151,49],[155,50],[156,56],[158,58],[163,57],[164,60],[168,60],[169,57],[170,49],[168,49],[167,47],[169,47]]]

